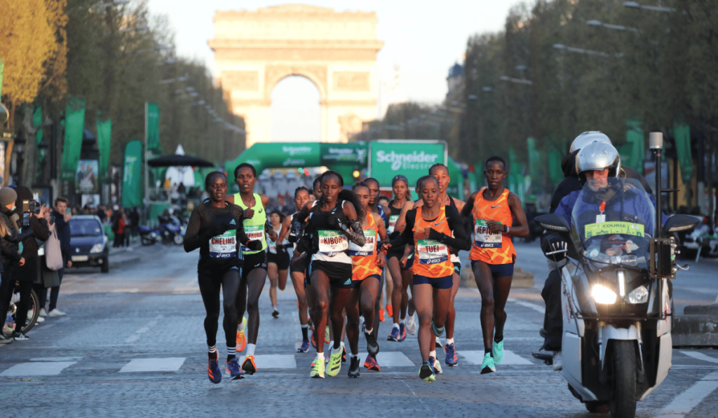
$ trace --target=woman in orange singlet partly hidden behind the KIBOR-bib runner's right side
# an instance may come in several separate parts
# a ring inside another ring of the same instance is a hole
[[[379,238],[386,242],[386,229],[381,217],[368,210],[369,187],[360,182],[352,187],[352,191],[357,195],[361,209],[366,214],[362,220],[365,244],[363,247],[353,242],[349,244],[349,255],[352,257],[353,263],[352,292],[346,306],[347,336],[352,352],[348,374],[349,377],[359,377],[359,305],[364,313],[365,324],[369,324],[364,329],[366,351],[373,358],[376,358],[376,354],[379,352],[376,333],[372,332],[373,329],[370,326],[374,323],[374,305],[376,304],[376,295],[379,293],[381,267],[386,265],[385,253],[383,251],[377,253],[376,244]]]

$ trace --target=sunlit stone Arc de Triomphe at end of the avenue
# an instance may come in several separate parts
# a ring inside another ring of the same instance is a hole
[[[271,91],[302,75],[320,92],[321,141],[346,142],[376,118],[376,14],[285,5],[257,11],[217,11],[215,75],[244,118],[246,148],[271,141]]]

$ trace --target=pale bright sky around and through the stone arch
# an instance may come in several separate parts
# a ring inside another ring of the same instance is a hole
[[[205,62],[213,71],[215,11],[249,10],[302,3],[336,11],[375,11],[377,35],[384,47],[377,55],[380,82],[388,85],[398,67],[393,98],[439,103],[447,92],[447,73],[461,62],[473,34],[503,29],[515,0],[149,0],[152,14],[167,16],[175,32],[177,55]],[[314,90],[312,90],[314,88]],[[388,96],[388,95],[384,95]],[[272,141],[318,141],[319,93],[303,77],[287,77],[272,92]],[[386,97],[383,98],[386,100]],[[382,98],[380,98],[382,100]],[[379,115],[378,117],[381,117]]]

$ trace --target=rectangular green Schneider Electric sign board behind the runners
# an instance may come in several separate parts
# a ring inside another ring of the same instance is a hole
[[[403,174],[409,187],[429,174],[435,163],[447,163],[444,141],[374,141],[369,143],[369,173],[381,186],[391,186],[391,179]]]

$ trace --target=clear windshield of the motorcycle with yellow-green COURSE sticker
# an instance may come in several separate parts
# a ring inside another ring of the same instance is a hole
[[[647,267],[655,228],[653,196],[634,179],[587,179],[572,211],[574,237],[596,267]]]

